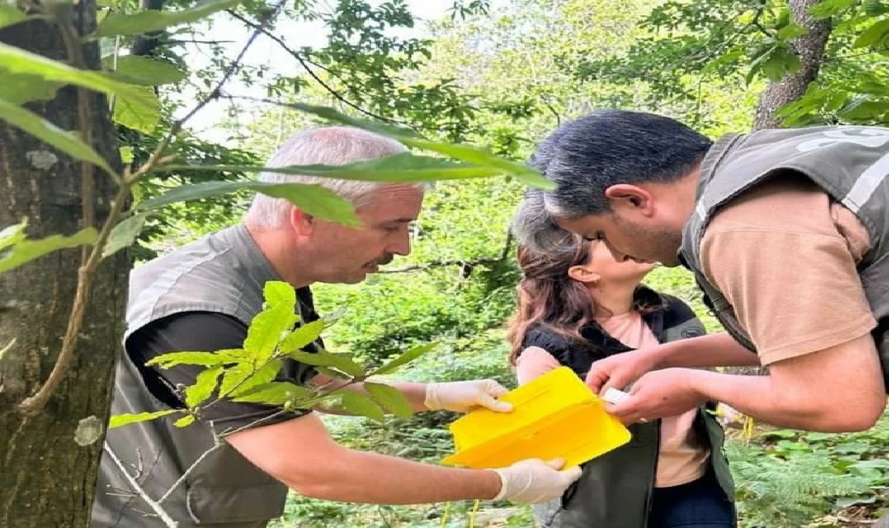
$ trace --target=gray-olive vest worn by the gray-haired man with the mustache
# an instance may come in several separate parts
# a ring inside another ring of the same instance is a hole
[[[218,312],[249,325],[262,309],[263,285],[270,280],[281,279],[243,225],[151,260],[130,277],[124,347],[127,338],[146,324],[181,312]],[[294,362],[285,368],[303,367]],[[117,364],[111,413],[165,408],[124,353]],[[173,421],[162,418],[108,431],[92,508],[93,528],[164,526],[145,500],[133,493],[132,482],[115,458],[151,500],[169,492],[160,506],[180,528],[260,528],[281,515],[287,494],[284,484],[220,440],[221,431],[212,423],[177,428]]]

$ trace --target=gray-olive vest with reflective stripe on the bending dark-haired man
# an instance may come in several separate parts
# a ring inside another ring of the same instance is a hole
[[[765,130],[720,138],[701,164],[698,196],[685,224],[679,258],[694,273],[705,302],[735,340],[756,350],[732,305],[701,270],[701,240],[718,208],[745,190],[787,172],[805,174],[853,212],[870,236],[870,251],[859,264],[861,284],[877,319],[873,332],[883,366],[889,366],[889,129],[868,126],[819,126]],[[817,262],[812,263],[817,266]],[[788,284],[805,288],[805,284]],[[889,383],[886,385],[889,387]]]

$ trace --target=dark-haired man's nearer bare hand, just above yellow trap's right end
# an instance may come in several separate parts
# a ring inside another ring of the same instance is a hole
[[[630,424],[694,409],[707,400],[692,385],[692,378],[698,372],[701,371],[679,368],[648,372],[633,384],[628,397],[606,406],[605,411]]]

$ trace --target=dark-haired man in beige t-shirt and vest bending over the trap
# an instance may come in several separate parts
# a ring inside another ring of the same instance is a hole
[[[633,383],[609,409],[622,420],[707,400],[787,428],[858,431],[879,419],[889,129],[765,130],[713,143],[668,117],[607,110],[562,125],[532,164],[558,188],[526,196],[514,224],[523,243],[545,248],[548,233],[567,229],[604,240],[618,259],[681,264],[728,331],[594,365],[596,391]],[[768,375],[676,368],[750,364]]]

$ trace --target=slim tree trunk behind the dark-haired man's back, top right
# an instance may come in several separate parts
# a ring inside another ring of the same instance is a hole
[[[809,30],[807,35],[790,41],[802,62],[802,68],[765,89],[759,97],[753,130],[781,128],[781,121],[775,114],[784,105],[801,98],[809,84],[818,77],[821,60],[824,60],[824,47],[830,36],[830,20],[814,20],[809,14],[809,8],[819,3],[821,0],[790,0],[790,20]]]

